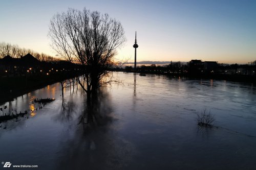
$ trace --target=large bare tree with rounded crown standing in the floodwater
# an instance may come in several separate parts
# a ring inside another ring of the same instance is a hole
[[[115,65],[116,50],[126,41],[121,23],[108,14],[86,8],[82,11],[69,9],[53,16],[49,37],[59,56],[83,65],[81,74],[86,85],[80,79],[77,81],[87,92],[90,103],[91,94],[98,87],[112,82],[105,78],[112,77],[109,70]]]

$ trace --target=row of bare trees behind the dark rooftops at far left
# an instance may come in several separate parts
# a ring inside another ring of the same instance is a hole
[[[39,61],[45,62],[54,62],[59,61],[60,59],[54,58],[50,55],[44,53],[37,53],[31,49],[21,48],[18,45],[13,45],[6,42],[0,42],[0,59],[4,58],[5,56],[9,55],[13,58],[20,58],[20,56],[25,56],[26,54],[30,53]]]

